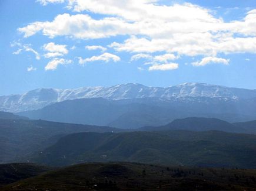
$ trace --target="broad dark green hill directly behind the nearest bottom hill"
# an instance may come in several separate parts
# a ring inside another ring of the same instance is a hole
[[[35,156],[34,162],[64,166],[128,161],[256,168],[256,135],[191,132],[191,138],[186,140],[189,134],[187,131],[72,134]]]

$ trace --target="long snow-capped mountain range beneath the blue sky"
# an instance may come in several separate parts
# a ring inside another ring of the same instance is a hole
[[[0,97],[0,111],[19,112],[36,110],[51,103],[79,98],[161,98],[162,100],[189,100],[189,98],[220,98],[227,100],[256,98],[256,90],[230,88],[202,83],[184,83],[171,87],[147,87],[141,84],[121,84],[111,87],[82,87],[59,90],[41,88],[24,94]]]

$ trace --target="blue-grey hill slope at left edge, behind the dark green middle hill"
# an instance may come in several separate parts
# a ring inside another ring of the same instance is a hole
[[[0,120],[0,163],[27,161],[26,155],[54,144],[75,132],[117,132],[111,127],[65,124],[51,121]]]

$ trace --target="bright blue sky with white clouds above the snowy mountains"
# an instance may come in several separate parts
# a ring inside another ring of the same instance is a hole
[[[0,0],[0,95],[185,82],[256,89],[255,0]]]

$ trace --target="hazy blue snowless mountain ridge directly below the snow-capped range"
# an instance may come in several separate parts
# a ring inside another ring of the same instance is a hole
[[[256,118],[256,105],[250,101],[194,98],[194,100],[159,100],[137,98],[106,100],[84,98],[67,100],[19,115],[34,119],[117,128],[161,126],[177,118],[220,118],[228,122],[251,121]]]

